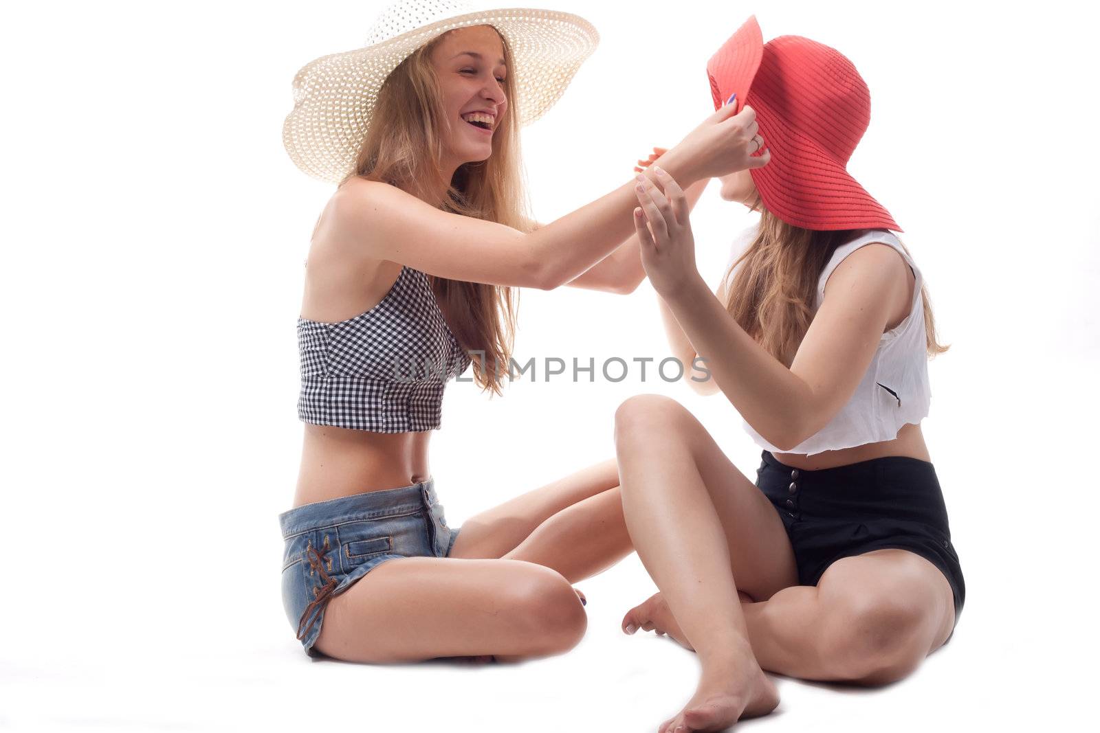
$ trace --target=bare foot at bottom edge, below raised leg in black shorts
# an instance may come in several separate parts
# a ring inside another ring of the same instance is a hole
[[[741,718],[767,715],[779,706],[776,686],[757,664],[747,643],[703,666],[688,704],[661,724],[659,733],[722,731]]]

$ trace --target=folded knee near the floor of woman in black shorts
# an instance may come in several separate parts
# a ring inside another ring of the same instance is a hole
[[[889,597],[851,599],[831,614],[823,655],[850,682],[888,685],[908,677],[927,652],[919,609]]]

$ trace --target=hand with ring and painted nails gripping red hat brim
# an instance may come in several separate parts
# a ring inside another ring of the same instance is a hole
[[[756,111],[746,107],[734,114],[735,109],[737,104],[730,97],[729,102],[669,151],[668,167],[673,167],[674,160],[682,178],[695,181],[768,165],[771,153],[759,134]]]

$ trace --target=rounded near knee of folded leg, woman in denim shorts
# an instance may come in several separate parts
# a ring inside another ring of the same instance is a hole
[[[588,618],[576,591],[557,570],[537,566],[510,592],[536,656],[561,654],[576,646],[588,626]]]

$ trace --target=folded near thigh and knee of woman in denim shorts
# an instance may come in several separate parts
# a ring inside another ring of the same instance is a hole
[[[387,560],[328,603],[317,649],[349,662],[542,656],[584,634],[586,618],[554,570],[509,559]]]

